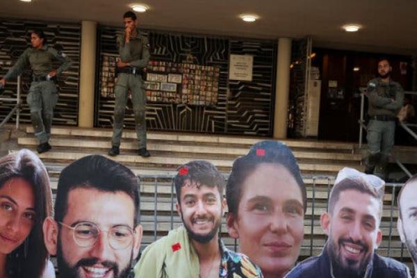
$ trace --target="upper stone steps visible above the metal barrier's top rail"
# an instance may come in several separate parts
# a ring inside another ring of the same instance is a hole
[[[80,129],[56,127],[51,131],[51,151],[40,154],[49,168],[59,169],[71,161],[88,154],[107,154],[111,147],[112,131],[109,129]],[[120,145],[120,155],[114,157],[133,172],[142,174],[173,174],[179,165],[191,160],[210,161],[224,173],[229,172],[238,156],[247,154],[250,146],[266,138],[242,138],[192,133],[149,132],[147,148],[150,158],[136,154],[136,133],[125,131]],[[17,140],[20,147],[35,150],[38,141],[31,126],[26,127],[26,136]],[[283,140],[293,150],[303,174],[334,175],[342,167],[350,166],[363,170],[361,155],[353,154],[354,144],[340,142],[317,142]]]

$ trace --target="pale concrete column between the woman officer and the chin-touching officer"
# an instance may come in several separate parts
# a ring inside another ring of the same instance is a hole
[[[97,22],[81,23],[79,126],[92,127],[96,70]]]

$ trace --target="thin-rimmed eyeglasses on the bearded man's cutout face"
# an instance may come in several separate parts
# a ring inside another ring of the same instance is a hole
[[[72,229],[74,241],[79,247],[91,247],[92,245],[95,245],[99,238],[99,234],[104,232],[104,230],[100,230],[97,224],[90,222],[80,222],[74,227],[63,222],[59,222],[59,224],[68,229]],[[113,250],[126,249],[133,241],[133,234],[135,234],[135,231],[124,225],[111,227],[111,229],[107,231],[108,244]]]

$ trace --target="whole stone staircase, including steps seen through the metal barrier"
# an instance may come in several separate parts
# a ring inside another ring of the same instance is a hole
[[[77,127],[54,127],[51,131],[51,151],[40,154],[51,177],[54,193],[60,170],[72,161],[88,154],[104,154],[111,147],[112,131],[109,129],[81,129]],[[204,159],[218,167],[224,174],[231,170],[234,159],[247,154],[250,147],[267,138],[220,136],[194,133],[167,133],[151,131],[147,135],[150,158],[138,156],[136,133],[124,131],[120,155],[112,157],[129,166],[140,177],[140,223],[144,229],[142,248],[165,236],[178,227],[181,219],[174,209],[176,202],[172,189],[172,175],[177,167],[191,160]],[[361,154],[355,154],[353,143],[318,142],[316,140],[281,140],[291,148],[297,158],[307,186],[307,211],[304,218],[304,240],[300,259],[320,254],[326,236],[320,227],[320,215],[327,209],[329,189],[332,188],[338,170],[345,166],[363,171]],[[38,142],[31,126],[26,134],[17,138],[20,148],[35,151]],[[392,192],[391,192],[392,191]],[[384,240],[378,252],[383,256],[401,258],[411,262],[409,253],[402,248],[396,229],[397,208],[393,206],[398,188],[387,188],[384,197],[382,234]],[[391,209],[393,206],[393,209]],[[223,221],[222,238],[234,248],[236,242],[229,238]]]

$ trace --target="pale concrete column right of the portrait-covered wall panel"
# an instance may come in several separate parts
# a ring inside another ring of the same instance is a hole
[[[274,138],[285,139],[290,92],[291,39],[278,40],[277,82],[275,88]]]

